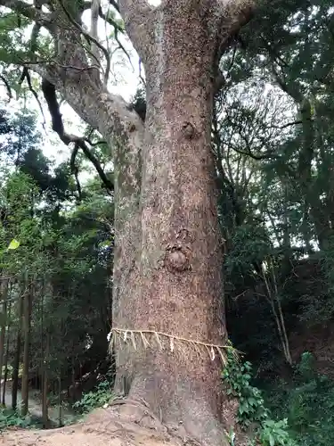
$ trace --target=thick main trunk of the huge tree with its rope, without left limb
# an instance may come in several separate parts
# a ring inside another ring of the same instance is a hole
[[[146,401],[164,425],[220,444],[230,420],[215,347],[227,335],[210,130],[217,64],[250,5],[119,4],[144,62],[147,114],[141,240],[113,315],[117,385],[126,376],[129,400]]]

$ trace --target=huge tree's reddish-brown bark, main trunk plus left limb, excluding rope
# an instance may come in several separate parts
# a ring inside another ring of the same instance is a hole
[[[80,23],[83,8],[74,16],[69,8],[69,16],[64,8],[71,2],[60,1],[61,7],[49,12],[19,0],[0,4],[49,30],[53,61],[29,67],[110,145],[113,326],[166,335],[146,350],[132,349],[131,343],[125,349],[118,339],[118,390],[126,380],[129,401],[146,401],[162,424],[182,427],[183,434],[203,444],[225,443],[231,414],[221,391],[219,360],[191,343],[175,352],[159,345],[166,339],[177,343],[177,337],[208,344],[226,340],[210,128],[219,59],[229,37],[249,20],[253,0],[162,0],[158,7],[146,0],[110,2],[145,68],[145,124],[122,98],[108,93],[96,68],[96,42],[91,41],[94,54],[78,44],[87,33],[73,23]],[[96,2],[91,4],[96,14]],[[62,140],[69,141],[61,131]]]

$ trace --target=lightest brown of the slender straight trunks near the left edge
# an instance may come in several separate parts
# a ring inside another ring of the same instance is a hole
[[[28,292],[24,296],[23,301],[23,372],[22,372],[22,405],[21,415],[25,417],[28,413],[29,404],[29,349],[30,349],[30,318],[32,303],[32,285],[26,283]]]

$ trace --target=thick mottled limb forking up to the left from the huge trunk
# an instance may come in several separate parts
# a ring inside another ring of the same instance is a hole
[[[62,0],[60,2],[62,3]],[[94,153],[85,138],[66,133],[55,90],[61,93],[61,96],[74,111],[77,111],[82,120],[102,133],[110,147],[115,166],[117,166],[115,169],[118,169],[118,173],[115,174],[117,188],[115,199],[122,202],[122,206],[127,209],[132,205],[131,203],[137,202],[136,194],[139,191],[139,186],[135,183],[137,177],[134,177],[132,173],[140,163],[140,152],[144,141],[143,122],[135,111],[128,108],[128,104],[123,98],[118,95],[110,95],[100,77],[96,76],[96,70],[92,70],[94,67],[90,66],[85,48],[80,44],[79,34],[82,34],[90,45],[96,44],[100,48],[101,44],[94,37],[88,36],[85,30],[83,33],[82,27],[76,20],[73,19],[75,23],[70,21],[69,16],[61,7],[61,3],[59,3],[58,10],[49,14],[53,19],[49,29],[52,29],[56,59],[45,62],[33,61],[31,64],[22,61],[22,64],[44,78],[43,92],[51,112],[53,129],[64,144],[80,145],[80,149],[93,162],[95,169],[102,176],[105,186],[112,189],[110,179],[103,178],[102,168],[99,166],[98,160],[94,158]],[[17,12],[22,9],[21,5],[23,4],[26,16],[31,20],[39,19],[38,10],[20,0],[0,0],[0,4],[7,5],[12,9],[15,7],[16,9],[13,11]],[[64,19],[70,22],[70,26],[64,28]],[[128,165],[123,166],[124,159],[126,162],[128,161]],[[127,189],[125,191],[120,189],[120,181],[124,178],[122,170],[130,172],[128,187],[134,191],[133,193],[128,193]]]

